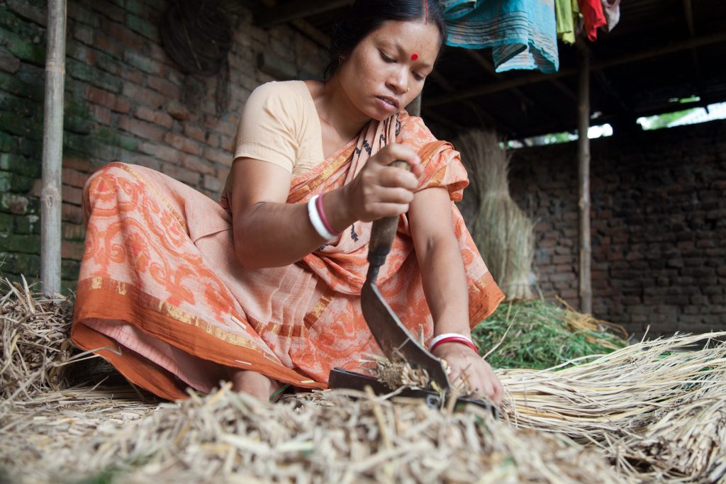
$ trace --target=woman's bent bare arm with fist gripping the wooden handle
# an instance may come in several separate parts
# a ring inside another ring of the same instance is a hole
[[[413,173],[388,166],[395,160],[407,161]],[[367,160],[350,184],[325,194],[325,216],[333,229],[341,231],[356,221],[405,213],[421,170],[412,149],[389,144]],[[242,266],[287,266],[327,242],[313,228],[306,203],[285,203],[292,178],[285,168],[240,158],[229,176],[234,250]]]

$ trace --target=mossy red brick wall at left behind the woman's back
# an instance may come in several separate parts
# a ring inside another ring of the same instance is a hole
[[[232,143],[250,92],[275,78],[322,74],[325,53],[287,26],[261,30],[249,9],[230,15],[227,112],[217,115],[216,78],[187,79],[160,44],[166,0],[70,0],[62,187],[63,273],[72,287],[83,253],[81,190],[111,160],[167,173],[211,197],[232,163]],[[256,4],[248,1],[246,4]],[[39,272],[38,192],[46,45],[44,0],[0,0],[0,272]],[[271,72],[267,70],[267,72]],[[184,104],[185,81],[203,93]]]

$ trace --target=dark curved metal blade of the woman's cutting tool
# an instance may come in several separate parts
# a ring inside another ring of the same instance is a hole
[[[378,287],[368,280],[361,290],[361,308],[370,332],[384,355],[388,358],[402,356],[413,368],[425,369],[431,381],[436,382],[441,390],[449,391],[449,379],[443,362],[409,333],[383,299]]]

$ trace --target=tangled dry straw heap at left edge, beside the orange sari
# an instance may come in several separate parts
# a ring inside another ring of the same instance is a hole
[[[0,279],[0,287],[0,399],[64,386],[72,303],[31,292],[25,278],[23,284]]]

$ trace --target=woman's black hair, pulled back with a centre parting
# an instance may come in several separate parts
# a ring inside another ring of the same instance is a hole
[[[356,0],[348,14],[333,27],[325,78],[332,77],[338,70],[341,55],[350,54],[360,41],[388,20],[433,23],[439,28],[441,55],[441,47],[446,43],[446,22],[439,0]]]

